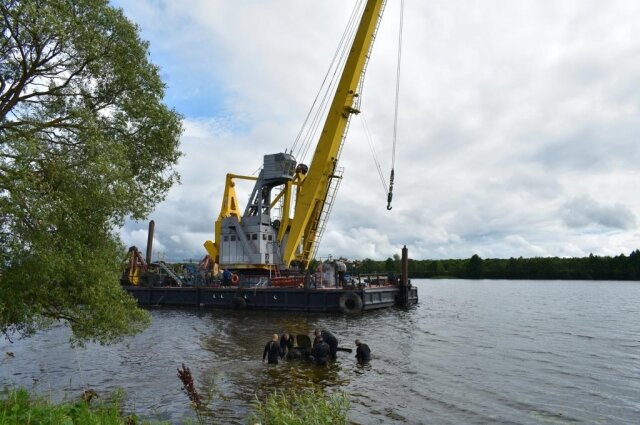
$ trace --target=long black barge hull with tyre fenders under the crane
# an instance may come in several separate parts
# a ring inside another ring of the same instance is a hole
[[[417,288],[400,286],[364,289],[124,286],[124,289],[141,306],[357,313],[402,304],[403,291],[408,299],[405,304],[418,302]]]

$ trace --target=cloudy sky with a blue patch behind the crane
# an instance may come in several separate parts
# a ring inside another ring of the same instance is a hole
[[[117,0],[184,117],[154,255],[200,259],[226,173],[290,148],[356,0]],[[640,248],[640,2],[389,0],[319,256],[580,257]],[[306,159],[309,163],[310,160]],[[246,187],[245,187],[246,186]],[[238,184],[241,208],[251,184]],[[128,221],[127,245],[146,246]]]

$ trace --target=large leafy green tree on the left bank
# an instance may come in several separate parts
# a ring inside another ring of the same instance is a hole
[[[0,331],[135,333],[149,316],[119,286],[115,229],[178,180],[180,116],[106,0],[2,0],[0,19]]]

